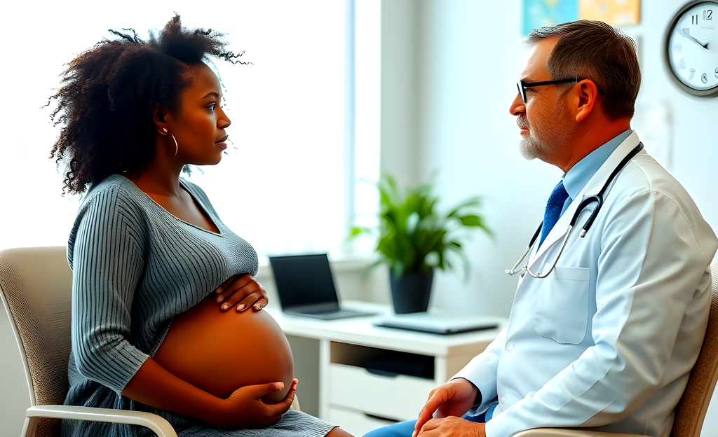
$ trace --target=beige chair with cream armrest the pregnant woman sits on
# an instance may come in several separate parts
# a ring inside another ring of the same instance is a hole
[[[159,437],[177,437],[167,420],[152,413],[62,405],[69,390],[72,298],[66,250],[0,250],[0,299],[22,356],[30,395],[21,437],[60,436],[63,418],[140,425]],[[292,408],[299,410],[297,398]]]

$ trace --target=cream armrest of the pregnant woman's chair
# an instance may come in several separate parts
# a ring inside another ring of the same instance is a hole
[[[111,408],[77,407],[74,405],[36,405],[27,409],[23,436],[32,436],[37,418],[93,420],[95,422],[126,423],[151,429],[158,437],[177,437],[172,425],[157,414],[144,411],[113,410]]]

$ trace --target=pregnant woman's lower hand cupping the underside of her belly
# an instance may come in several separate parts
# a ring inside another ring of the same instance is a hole
[[[297,380],[292,382],[289,393],[280,403],[266,404],[261,397],[283,388],[284,382],[239,387],[229,398],[222,400],[222,407],[218,410],[215,420],[212,420],[213,425],[220,428],[264,428],[274,425],[294,403]]]

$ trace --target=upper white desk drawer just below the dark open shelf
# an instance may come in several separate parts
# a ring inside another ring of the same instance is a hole
[[[396,420],[414,420],[434,380],[374,375],[363,367],[330,365],[330,403]]]

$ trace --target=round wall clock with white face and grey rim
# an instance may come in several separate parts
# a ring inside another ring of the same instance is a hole
[[[666,55],[681,89],[718,93],[718,2],[691,1],[679,10],[668,29]]]

